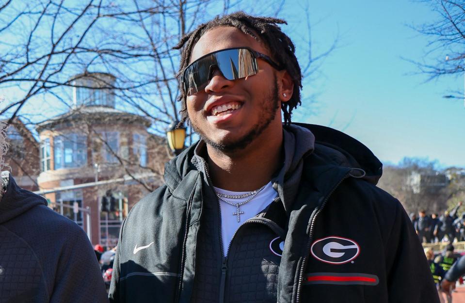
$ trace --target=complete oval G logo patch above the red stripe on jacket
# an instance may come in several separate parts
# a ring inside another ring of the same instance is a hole
[[[331,236],[313,242],[310,251],[321,262],[344,264],[360,254],[360,246],[354,240]]]

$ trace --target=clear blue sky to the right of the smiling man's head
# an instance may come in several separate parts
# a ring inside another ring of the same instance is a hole
[[[288,3],[288,2],[287,2]],[[302,20],[288,6],[285,30],[295,36]],[[412,75],[428,38],[407,25],[437,18],[420,2],[311,1],[315,48],[324,49],[337,32],[340,47],[321,66],[321,75],[304,87],[317,94],[316,115],[294,120],[343,130],[367,145],[383,162],[403,157],[437,159],[442,166],[465,166],[465,108],[460,99],[445,99],[464,90],[464,75],[424,82]]]

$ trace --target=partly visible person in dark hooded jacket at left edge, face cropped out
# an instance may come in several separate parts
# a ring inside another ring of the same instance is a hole
[[[2,173],[0,302],[108,302],[84,231]]]

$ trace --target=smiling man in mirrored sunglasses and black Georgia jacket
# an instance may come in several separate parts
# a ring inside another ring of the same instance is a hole
[[[290,123],[301,71],[282,23],[238,12],[180,41],[182,122],[201,140],[123,223],[112,302],[438,302],[379,160]]]

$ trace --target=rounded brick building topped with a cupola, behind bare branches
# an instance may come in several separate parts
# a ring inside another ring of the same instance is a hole
[[[27,135],[32,143],[25,149],[35,155],[27,175],[35,183],[20,173],[25,166],[12,172],[20,186],[38,189],[49,207],[82,226],[93,244],[112,247],[128,210],[160,186],[166,144],[147,132],[149,119],[115,109],[112,75],[71,80],[70,111],[38,124],[39,142]],[[10,128],[11,142],[21,127]]]

